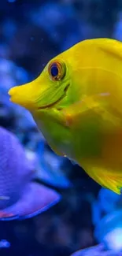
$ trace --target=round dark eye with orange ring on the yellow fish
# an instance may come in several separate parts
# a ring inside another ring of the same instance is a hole
[[[60,81],[64,78],[66,68],[65,63],[61,61],[53,61],[48,67],[50,79],[54,81]]]

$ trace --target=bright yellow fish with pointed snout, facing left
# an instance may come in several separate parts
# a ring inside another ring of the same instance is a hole
[[[122,187],[122,43],[90,39],[59,54],[11,101],[29,109],[50,147],[117,194]]]

